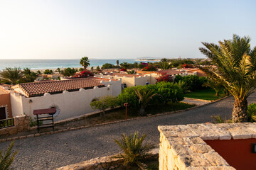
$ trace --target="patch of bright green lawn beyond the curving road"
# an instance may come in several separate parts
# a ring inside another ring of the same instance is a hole
[[[202,89],[194,92],[190,92],[188,94],[184,95],[187,98],[198,98],[198,99],[203,99],[203,100],[208,100],[208,101],[215,101],[219,98],[223,98],[225,94],[223,91],[220,91],[219,96],[215,96],[215,91],[213,89]]]

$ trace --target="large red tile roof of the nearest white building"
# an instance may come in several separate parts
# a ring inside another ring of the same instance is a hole
[[[18,88],[23,91],[26,97],[43,96],[45,93],[60,94],[63,91],[93,89],[94,86],[103,87],[105,85],[91,78],[18,84]]]

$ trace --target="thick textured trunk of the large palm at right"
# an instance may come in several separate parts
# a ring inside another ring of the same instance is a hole
[[[238,99],[234,102],[232,112],[233,123],[247,122],[247,100]]]

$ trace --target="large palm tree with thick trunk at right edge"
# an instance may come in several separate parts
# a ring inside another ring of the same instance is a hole
[[[212,60],[216,69],[208,74],[223,84],[235,98],[232,121],[247,121],[247,97],[256,89],[256,47],[250,48],[250,38],[233,35],[233,40],[219,41],[219,45],[202,42],[199,50]]]

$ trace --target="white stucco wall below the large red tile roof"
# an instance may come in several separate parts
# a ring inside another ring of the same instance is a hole
[[[55,120],[63,120],[66,118],[72,118],[78,115],[84,115],[86,113],[92,113],[93,110],[90,107],[92,99],[100,96],[117,96],[121,93],[121,80],[119,81],[102,81],[105,87],[97,87],[94,89],[80,89],[79,91],[63,91],[62,94],[44,94],[43,96],[37,96],[32,98],[26,98],[25,96],[15,96],[12,94],[11,101],[12,109],[14,109],[14,116],[25,113],[31,117],[33,110],[50,108],[50,106],[58,106],[60,113],[55,116]],[[14,103],[14,104],[13,104]]]

